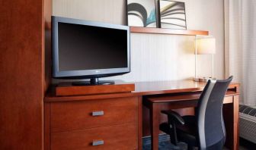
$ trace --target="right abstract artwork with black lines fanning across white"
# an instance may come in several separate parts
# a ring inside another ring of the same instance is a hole
[[[184,2],[159,1],[160,23],[162,28],[186,30]]]

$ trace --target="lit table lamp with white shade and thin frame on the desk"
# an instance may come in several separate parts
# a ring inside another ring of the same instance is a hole
[[[212,36],[204,36],[197,38],[195,42],[195,81],[206,82],[213,79],[213,55],[216,52],[216,40]],[[212,55],[212,76],[211,77],[197,77],[197,55]]]

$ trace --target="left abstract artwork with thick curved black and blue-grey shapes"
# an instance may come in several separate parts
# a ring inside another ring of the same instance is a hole
[[[127,0],[128,26],[156,27],[155,0]]]

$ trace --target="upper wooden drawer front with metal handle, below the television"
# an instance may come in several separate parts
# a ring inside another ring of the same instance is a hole
[[[121,123],[136,123],[138,120],[138,98],[56,102],[50,106],[50,118],[52,133]]]

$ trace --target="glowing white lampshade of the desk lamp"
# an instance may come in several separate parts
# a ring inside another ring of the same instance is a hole
[[[215,39],[204,38],[196,39],[197,42],[197,55],[210,55],[215,54]]]

